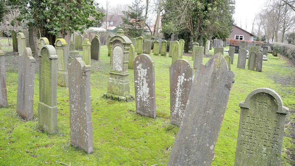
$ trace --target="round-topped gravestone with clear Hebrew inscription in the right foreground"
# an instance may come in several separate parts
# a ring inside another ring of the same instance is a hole
[[[272,89],[258,88],[241,107],[235,166],[279,166],[285,117],[289,109]]]

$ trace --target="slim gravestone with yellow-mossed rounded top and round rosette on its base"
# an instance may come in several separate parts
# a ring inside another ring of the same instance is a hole
[[[68,87],[69,86],[69,78],[68,78],[68,51],[65,39],[59,38],[55,41],[55,50],[57,58],[57,84],[59,86]]]

